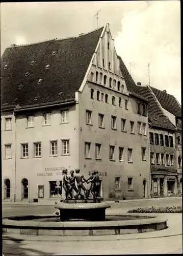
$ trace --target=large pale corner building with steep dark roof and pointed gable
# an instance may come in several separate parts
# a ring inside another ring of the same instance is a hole
[[[97,169],[104,199],[150,197],[149,100],[121,61],[109,24],[5,50],[3,200],[65,197],[63,168]]]

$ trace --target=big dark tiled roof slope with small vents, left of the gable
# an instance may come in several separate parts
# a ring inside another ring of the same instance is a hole
[[[1,59],[2,109],[73,101],[102,30],[7,48]]]

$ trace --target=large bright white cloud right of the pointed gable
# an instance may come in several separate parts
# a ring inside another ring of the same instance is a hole
[[[146,1],[148,2],[148,1]],[[151,1],[143,11],[126,12],[115,47],[135,82],[167,90],[181,102],[180,94],[180,3]]]

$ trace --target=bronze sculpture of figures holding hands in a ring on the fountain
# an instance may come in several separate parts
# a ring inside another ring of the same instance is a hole
[[[65,190],[65,197],[66,199],[73,198],[73,190],[76,192],[75,199],[78,199],[81,195],[81,189],[83,189],[85,198],[88,199],[91,194],[93,195],[93,199],[96,199],[99,196],[99,189],[100,189],[100,179],[98,176],[98,171],[93,170],[92,175],[86,180],[83,174],[80,174],[80,169],[75,169],[74,171],[70,170],[70,176],[67,176],[67,169],[63,170],[63,188]],[[75,181],[77,183],[77,187],[75,185]],[[90,183],[88,189],[84,186],[83,183]]]

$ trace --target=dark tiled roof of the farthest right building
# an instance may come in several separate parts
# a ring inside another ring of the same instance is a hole
[[[181,118],[181,106],[173,95],[153,87],[151,87],[151,89],[155,94],[156,98],[159,100],[160,104],[162,105],[162,108],[164,108],[174,116]]]

